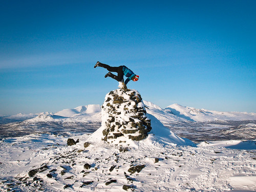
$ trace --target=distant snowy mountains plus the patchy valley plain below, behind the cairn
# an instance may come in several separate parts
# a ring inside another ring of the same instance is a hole
[[[253,139],[256,136],[255,113],[216,112],[178,104],[162,109],[149,101],[143,101],[143,103],[146,106],[146,112],[156,117],[170,131],[196,143],[204,140]],[[13,119],[7,120],[7,118],[8,116],[0,117],[0,139],[38,133],[42,130],[55,133],[57,132],[55,130],[59,132],[60,127],[61,133],[65,134],[81,130],[92,133],[101,123],[101,108],[98,104],[89,104],[54,114],[49,112],[18,114],[12,116]]]

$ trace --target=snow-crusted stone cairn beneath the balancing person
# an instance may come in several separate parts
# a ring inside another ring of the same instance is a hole
[[[152,129],[141,95],[136,90],[111,91],[101,107],[104,141],[125,142],[126,138],[139,141]]]

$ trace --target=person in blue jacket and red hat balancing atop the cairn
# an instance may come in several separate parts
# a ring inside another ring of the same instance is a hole
[[[132,70],[130,70],[129,68],[127,68],[126,66],[119,66],[119,67],[110,67],[109,65],[106,65],[104,63],[101,62],[97,62],[94,66],[94,68],[96,67],[102,67],[105,68],[109,71],[109,73],[107,73],[105,75],[106,77],[111,77],[115,80],[117,80],[118,82],[123,82],[123,76],[128,77],[125,81],[124,84],[126,85],[130,80],[133,81],[137,81],[139,79],[139,75],[135,75],[134,72],[132,72]],[[111,72],[116,72],[117,76],[114,75]]]

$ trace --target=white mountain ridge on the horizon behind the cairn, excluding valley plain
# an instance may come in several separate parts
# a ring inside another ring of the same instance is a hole
[[[165,109],[160,106],[143,100],[147,113],[154,115],[158,120],[163,123],[177,122],[177,121],[243,121],[243,120],[256,120],[256,113],[247,112],[218,112],[205,109],[196,109],[180,104],[168,105]],[[76,118],[82,120],[84,118],[100,121],[101,107],[99,104],[81,105],[75,109],[64,109],[56,113],[37,113],[37,114],[17,114],[12,116],[1,116],[0,124],[5,124],[15,121],[24,121],[28,119],[38,120],[58,120],[66,118]]]

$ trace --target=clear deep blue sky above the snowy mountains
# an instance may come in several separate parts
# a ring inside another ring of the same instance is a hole
[[[256,1],[1,1],[0,114],[102,104],[118,83],[162,108],[256,113]]]

